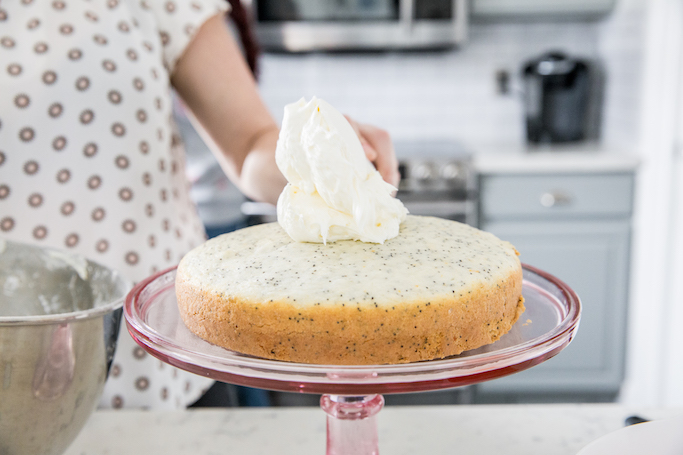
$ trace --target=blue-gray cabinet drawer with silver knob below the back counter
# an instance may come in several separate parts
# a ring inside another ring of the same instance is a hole
[[[628,216],[633,174],[486,175],[480,191],[484,219]]]

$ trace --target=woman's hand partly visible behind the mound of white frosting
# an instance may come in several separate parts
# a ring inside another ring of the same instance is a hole
[[[389,133],[372,125],[358,123],[348,115],[345,117],[360,138],[365,156],[375,165],[385,181],[398,188],[401,175]]]

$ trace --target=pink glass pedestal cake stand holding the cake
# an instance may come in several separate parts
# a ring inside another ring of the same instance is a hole
[[[564,349],[581,303],[562,281],[524,265],[526,311],[495,343],[458,356],[402,365],[309,365],[229,351],[190,332],[178,313],[176,269],[139,283],[126,298],[128,331],[153,356],[217,381],[270,390],[320,393],[328,455],[378,453],[375,415],[381,394],[420,392],[488,381],[537,365]]]

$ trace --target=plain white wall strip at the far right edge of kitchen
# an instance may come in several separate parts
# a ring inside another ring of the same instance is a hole
[[[683,2],[647,2],[627,383],[622,400],[683,406]]]

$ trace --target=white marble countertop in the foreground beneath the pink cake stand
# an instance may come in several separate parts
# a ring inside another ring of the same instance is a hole
[[[385,407],[378,415],[382,455],[575,455],[638,414],[683,409],[617,404]],[[96,411],[66,455],[324,454],[325,414],[308,408]]]

